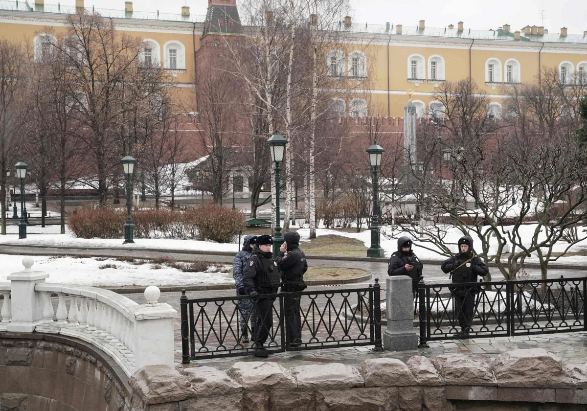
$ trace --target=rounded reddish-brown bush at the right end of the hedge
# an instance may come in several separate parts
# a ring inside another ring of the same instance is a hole
[[[240,211],[214,203],[203,204],[196,211],[192,218],[200,240],[231,242],[245,221],[245,215]]]

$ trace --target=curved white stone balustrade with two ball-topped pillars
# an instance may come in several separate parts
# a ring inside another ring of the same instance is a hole
[[[9,275],[9,284],[0,284],[4,295],[0,331],[79,338],[111,356],[129,376],[144,365],[174,365],[177,311],[157,302],[161,294],[157,287],[147,287],[147,304],[141,305],[102,288],[46,283],[49,275],[32,271],[33,263],[32,258],[23,258],[25,269]]]

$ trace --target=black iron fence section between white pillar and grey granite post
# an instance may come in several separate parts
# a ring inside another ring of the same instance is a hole
[[[375,345],[382,349],[379,281],[367,288],[189,299],[181,292],[182,362]],[[296,325],[297,324],[297,325]]]

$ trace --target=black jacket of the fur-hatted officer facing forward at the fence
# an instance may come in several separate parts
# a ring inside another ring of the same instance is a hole
[[[279,272],[273,261],[271,251],[263,252],[255,244],[251,258],[247,261],[242,284],[247,294],[257,291],[259,294],[274,294],[279,288]]]

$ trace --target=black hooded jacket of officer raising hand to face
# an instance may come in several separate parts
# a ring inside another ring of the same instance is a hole
[[[279,251],[275,262],[281,271],[282,291],[303,291],[306,288],[303,282],[303,274],[308,271],[306,255],[299,249],[299,234],[296,231],[288,231],[284,234],[284,240],[288,245],[288,254]]]

